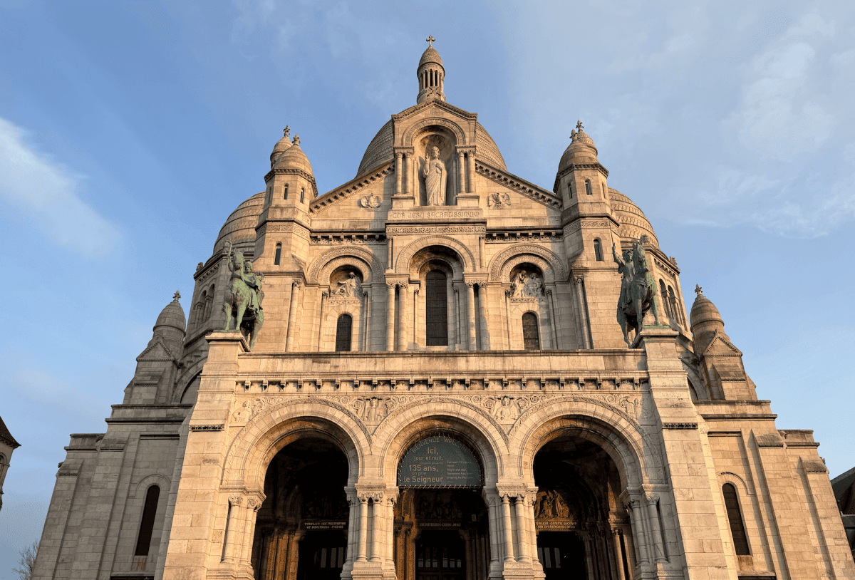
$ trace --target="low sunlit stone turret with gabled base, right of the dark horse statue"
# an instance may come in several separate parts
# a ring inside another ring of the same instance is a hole
[[[724,333],[724,320],[699,286],[689,319],[701,376],[713,399],[757,400],[756,389],[742,364],[742,352]]]

